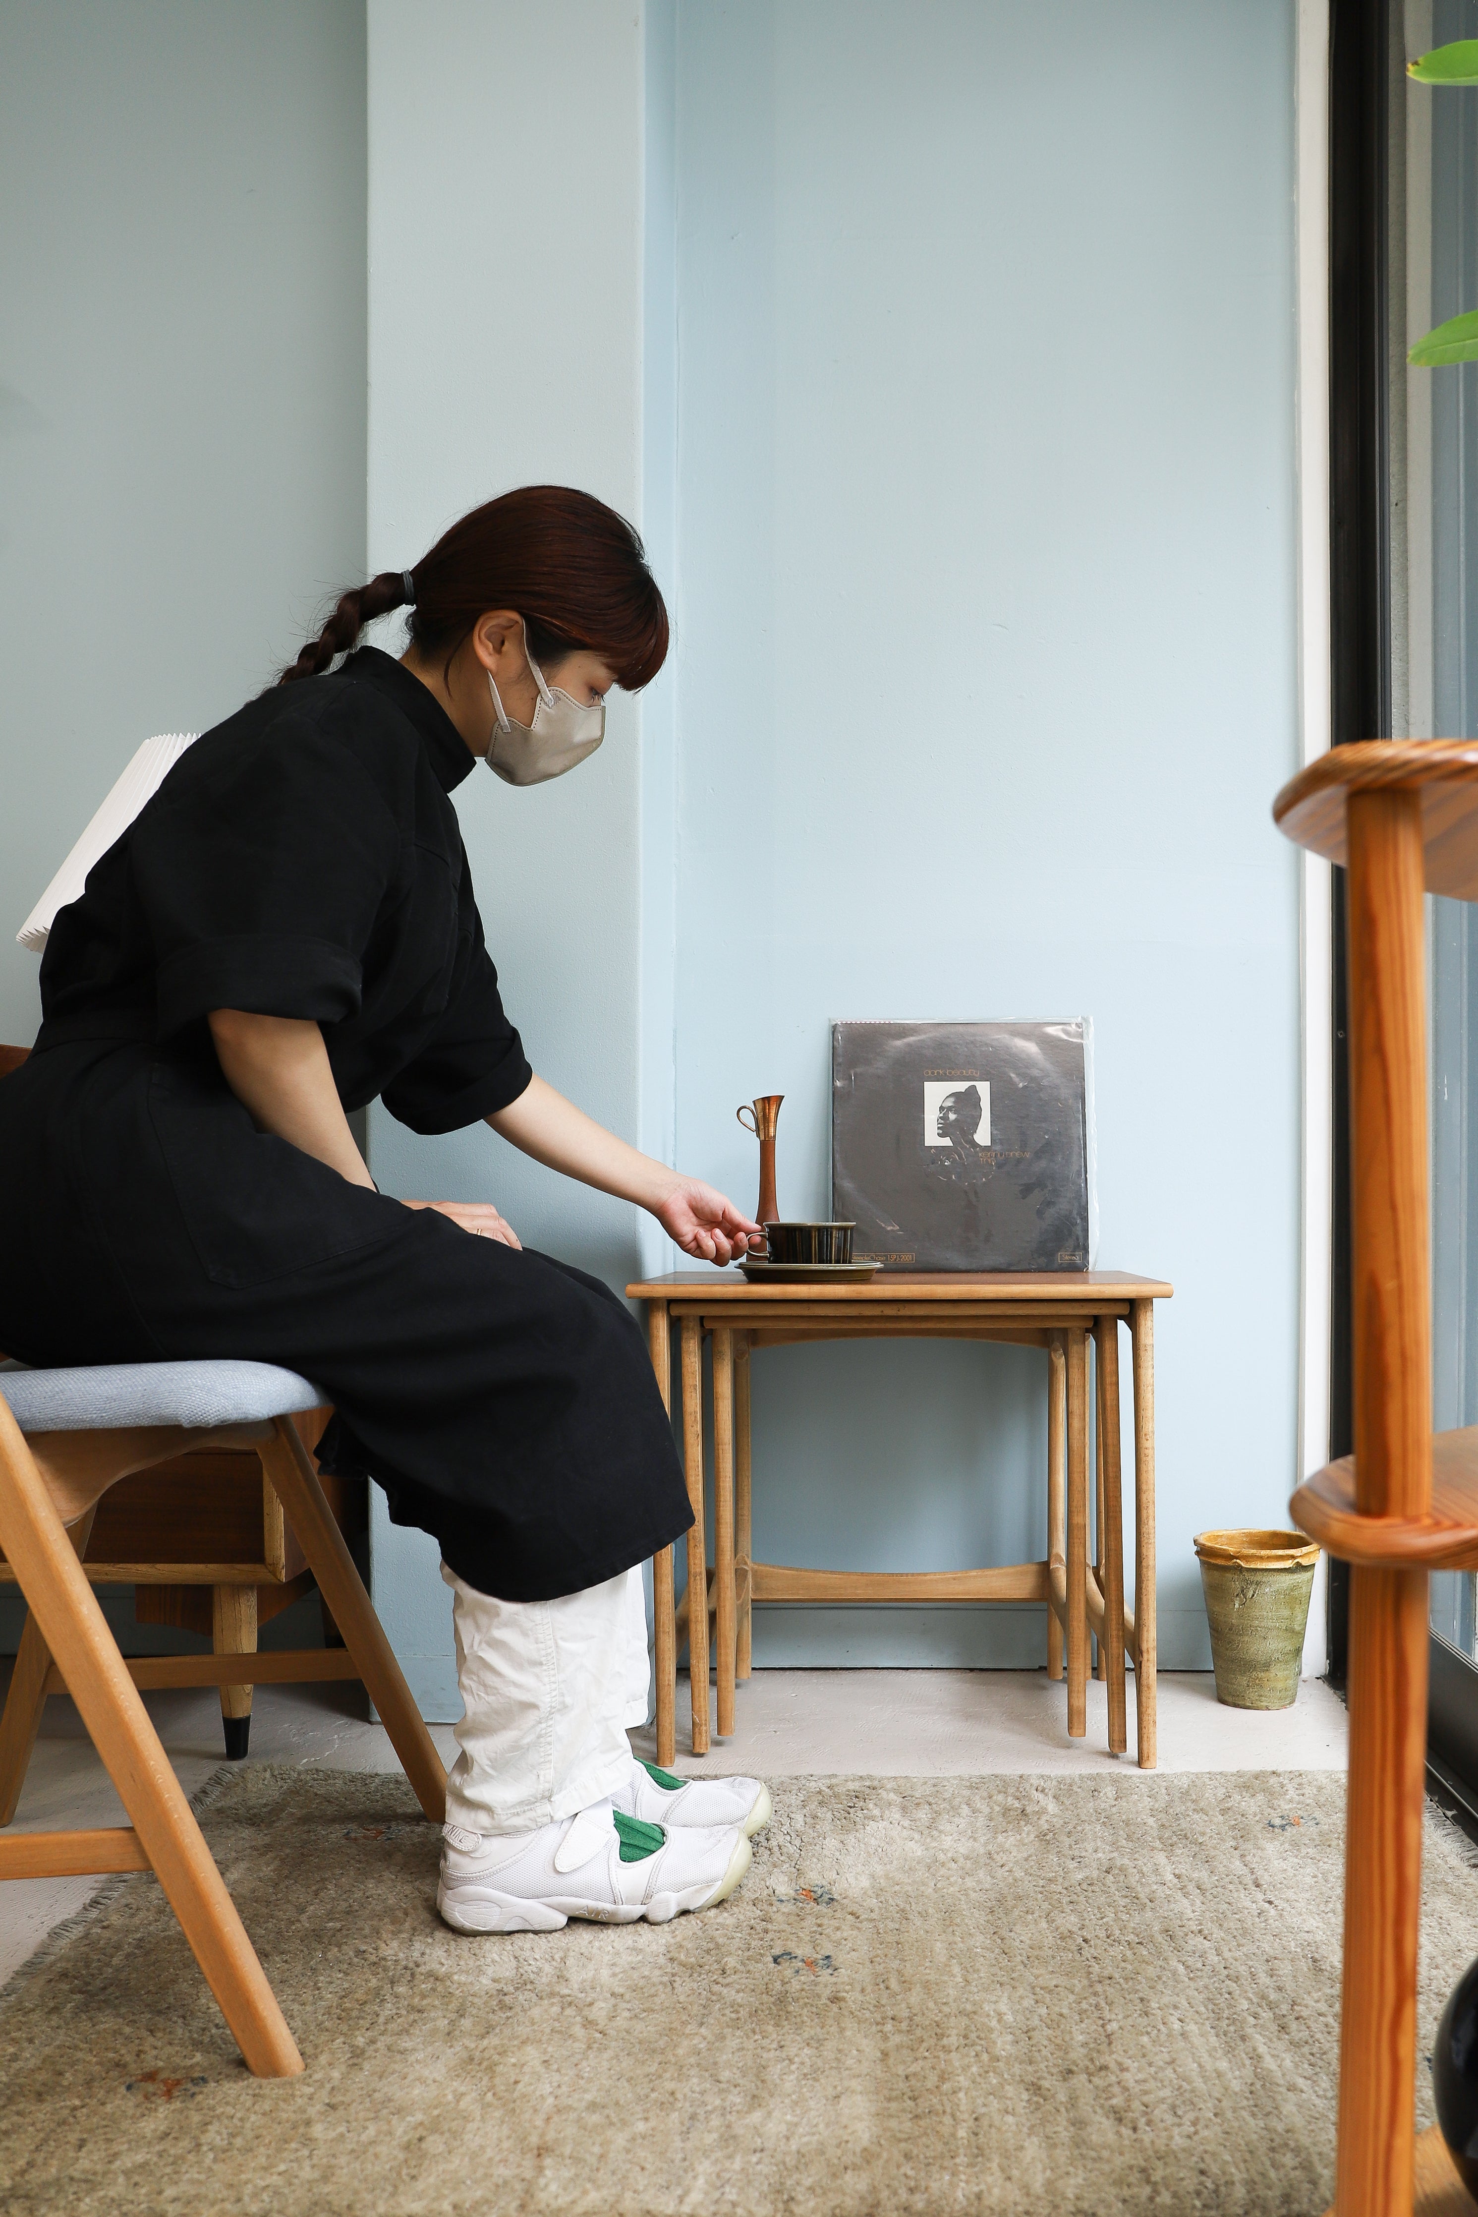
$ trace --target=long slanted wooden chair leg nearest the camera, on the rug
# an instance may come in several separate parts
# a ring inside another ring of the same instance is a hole
[[[0,1547],[248,2068],[257,2077],[295,2077],[304,2060],[277,1995],[2,1401]]]

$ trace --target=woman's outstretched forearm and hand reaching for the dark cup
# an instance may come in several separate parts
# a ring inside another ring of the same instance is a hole
[[[494,1108],[487,1122],[550,1171],[649,1208],[685,1255],[725,1264],[745,1255],[751,1242],[764,1244],[760,1226],[740,1215],[722,1193],[627,1146],[543,1077],[532,1077],[519,1100]]]

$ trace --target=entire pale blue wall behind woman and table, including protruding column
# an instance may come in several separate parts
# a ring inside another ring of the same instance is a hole
[[[0,33],[20,922],[137,738],[233,707],[363,561],[366,111],[335,0]],[[370,568],[552,477],[674,594],[576,778],[459,791],[536,1066],[742,1202],[733,1108],[782,1091],[811,1213],[831,1018],[1092,1015],[1101,1250],[1177,1284],[1161,1656],[1203,1663],[1190,1534],[1294,1479],[1292,0],[370,0],[368,55]],[[481,1128],[377,1117],[372,1159],[614,1284],[669,1259]],[[1039,1554],[1039,1370],[760,1357],[760,1552]],[[434,1550],[381,1523],[374,1576],[454,1714]],[[1039,1652],[1033,1612],[758,1625],[760,1661]]]

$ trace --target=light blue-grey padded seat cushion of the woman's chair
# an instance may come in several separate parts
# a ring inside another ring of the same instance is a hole
[[[115,1432],[146,1423],[261,1423],[328,1397],[277,1363],[0,1363],[0,1394],[22,1432]]]

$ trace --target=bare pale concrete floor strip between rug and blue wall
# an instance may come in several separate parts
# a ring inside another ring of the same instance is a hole
[[[9,1683],[9,1663],[0,1665]],[[195,1794],[222,1765],[219,1700],[213,1692],[148,1694],[148,1712],[179,1774]],[[687,1678],[678,1683],[678,1738],[687,1738]],[[1044,1672],[955,1669],[767,1669],[738,1692],[736,1734],[714,1754],[678,1754],[676,1767],[751,1771],[760,1778],[807,1774],[873,1774],[884,1778],[988,1776],[995,1771],[1137,1769],[1135,1687],[1130,1678],[1130,1756],[1106,1749],[1104,1687],[1088,1687],[1088,1738],[1066,1738],[1066,1692]],[[450,1763],[456,1743],[448,1725],[432,1738]],[[632,1734],[651,1760],[651,1734]],[[259,1687],[250,1754],[261,1763],[321,1769],[394,1769],[390,1740],[366,1723],[352,1685]],[[1223,1709],[1210,1674],[1163,1672],[1159,1680],[1161,1771],[1325,1771],[1345,1767],[1345,1705],[1323,1683],[1305,1678],[1292,1709],[1274,1714]],[[16,1827],[60,1831],[73,1825],[122,1825],[124,1811],[91,1749],[73,1705],[47,1703]],[[0,1887],[0,1986],[53,1924],[91,1898],[95,1878],[16,1880]]]

